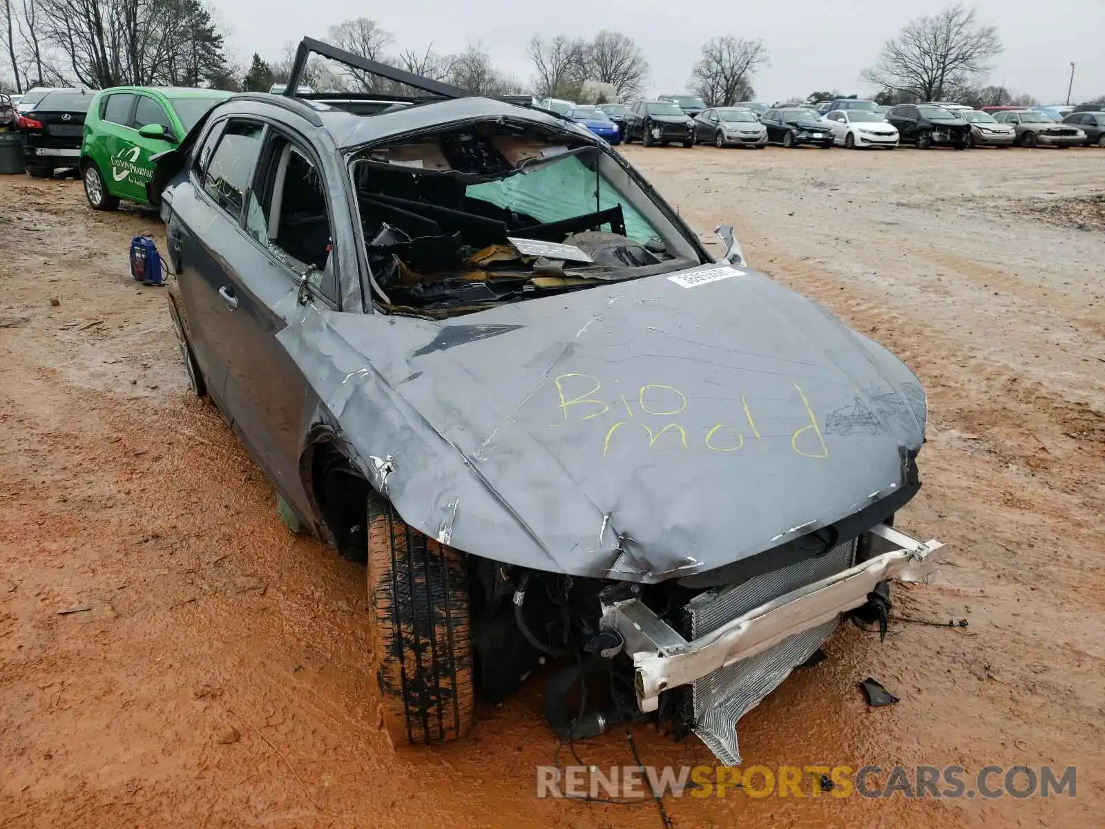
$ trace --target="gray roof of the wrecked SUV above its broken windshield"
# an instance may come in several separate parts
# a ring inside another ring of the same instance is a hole
[[[211,115],[224,112],[231,114],[236,112],[243,115],[273,115],[273,111],[282,111],[290,115],[297,114],[311,122],[313,126],[326,129],[339,149],[359,147],[421,129],[497,117],[560,130],[567,126],[569,129],[580,130],[581,136],[591,135],[583,127],[576,125],[575,122],[545,109],[532,109],[494,98],[476,96],[429,98],[422,103],[408,104],[375,115],[355,115],[344,109],[330,107],[325,98],[318,96],[306,99],[255,92],[227,98],[211,109]]]

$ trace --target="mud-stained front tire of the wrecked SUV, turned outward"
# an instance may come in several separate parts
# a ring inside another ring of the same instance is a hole
[[[372,669],[394,742],[456,739],[474,720],[467,568],[460,552],[369,513]]]

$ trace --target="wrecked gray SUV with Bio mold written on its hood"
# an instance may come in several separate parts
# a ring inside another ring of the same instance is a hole
[[[547,661],[561,736],[663,720],[736,764],[737,720],[933,565],[891,526],[916,377],[585,127],[311,40],[287,90],[312,52],[418,94],[235,96],[150,197],[194,390],[367,562],[392,734],[459,737]]]

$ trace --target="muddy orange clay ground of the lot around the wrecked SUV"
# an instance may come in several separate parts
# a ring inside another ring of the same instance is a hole
[[[1078,767],[1074,799],[730,789],[669,798],[674,826],[1105,826],[1105,150],[625,155],[929,393],[898,525],[947,565],[895,607],[969,627],[843,628],[741,721],[746,764]],[[393,748],[364,569],[285,531],[189,397],[164,291],[129,279],[133,235],[164,250],[157,217],[25,177],[0,206],[0,826],[661,826],[651,801],[535,798],[557,748],[540,676],[466,742]],[[901,702],[869,709],[867,675]],[[646,764],[711,763],[634,735]],[[620,728],[577,749],[632,762]]]

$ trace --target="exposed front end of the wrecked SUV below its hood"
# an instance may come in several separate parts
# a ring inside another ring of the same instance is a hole
[[[807,541],[824,538],[832,535]],[[940,546],[880,523],[829,541],[817,555],[704,589],[488,564],[478,579],[487,595],[513,594],[509,612],[499,610],[497,621],[488,612],[475,625],[477,684],[502,699],[538,662],[565,658],[554,662],[545,692],[546,717],[559,736],[659,722],[676,738],[696,734],[722,763],[739,765],[740,717],[809,661],[844,615],[885,620],[888,581],[926,579]]]

